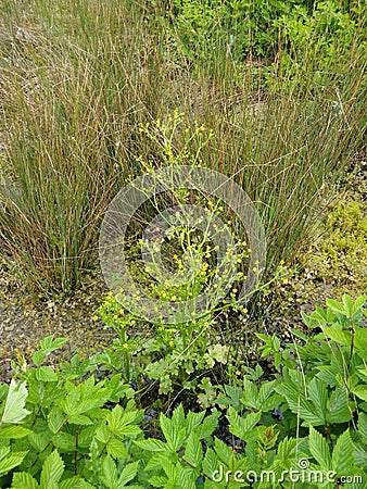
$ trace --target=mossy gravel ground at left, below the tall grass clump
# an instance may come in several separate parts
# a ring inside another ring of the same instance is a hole
[[[101,277],[89,276],[71,299],[35,304],[29,293],[0,268],[0,359],[30,356],[48,335],[68,339],[60,354],[83,356],[111,343],[113,333],[92,321],[106,293]]]

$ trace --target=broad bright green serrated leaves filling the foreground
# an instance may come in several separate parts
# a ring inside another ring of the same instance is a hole
[[[298,488],[365,488],[366,301],[328,300],[289,344],[258,335],[274,378],[248,368],[218,408],[180,404],[154,434],[119,373],[101,379],[96,359],[77,356],[55,367],[65,340],[46,338],[0,387],[1,487],[291,488],[298,477]],[[229,437],[215,431],[223,423]]]

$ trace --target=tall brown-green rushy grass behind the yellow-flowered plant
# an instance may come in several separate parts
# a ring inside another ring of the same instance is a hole
[[[7,1],[0,11],[0,238],[36,292],[68,292],[96,266],[111,199],[144,171],[141,162],[160,166],[165,158],[162,131],[154,141],[139,129],[167,121],[175,108],[188,125],[197,121],[215,135],[201,148],[201,162],[233,177],[255,203],[268,275],[294,254],[328,184],[360,149],[366,57],[359,35],[334,39],[334,57],[325,57],[313,36],[304,37],[302,50],[293,41],[292,49],[277,45],[273,61],[266,48],[264,77],[251,62],[252,48],[241,48],[239,62],[215,38],[207,65],[174,49],[153,2]],[[182,15],[169,17],[174,30]],[[226,22],[220,28],[230,35]],[[173,158],[182,154],[186,128],[168,136]],[[197,154],[198,145],[191,139],[188,151]]]

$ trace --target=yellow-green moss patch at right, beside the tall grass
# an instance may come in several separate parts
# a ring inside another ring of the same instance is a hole
[[[309,313],[328,298],[354,299],[367,289],[367,204],[363,195],[343,193],[328,209],[317,238],[292,264],[290,277],[273,285],[264,299],[263,317],[269,330],[287,334],[302,328],[300,310]],[[292,271],[291,271],[292,269]]]

